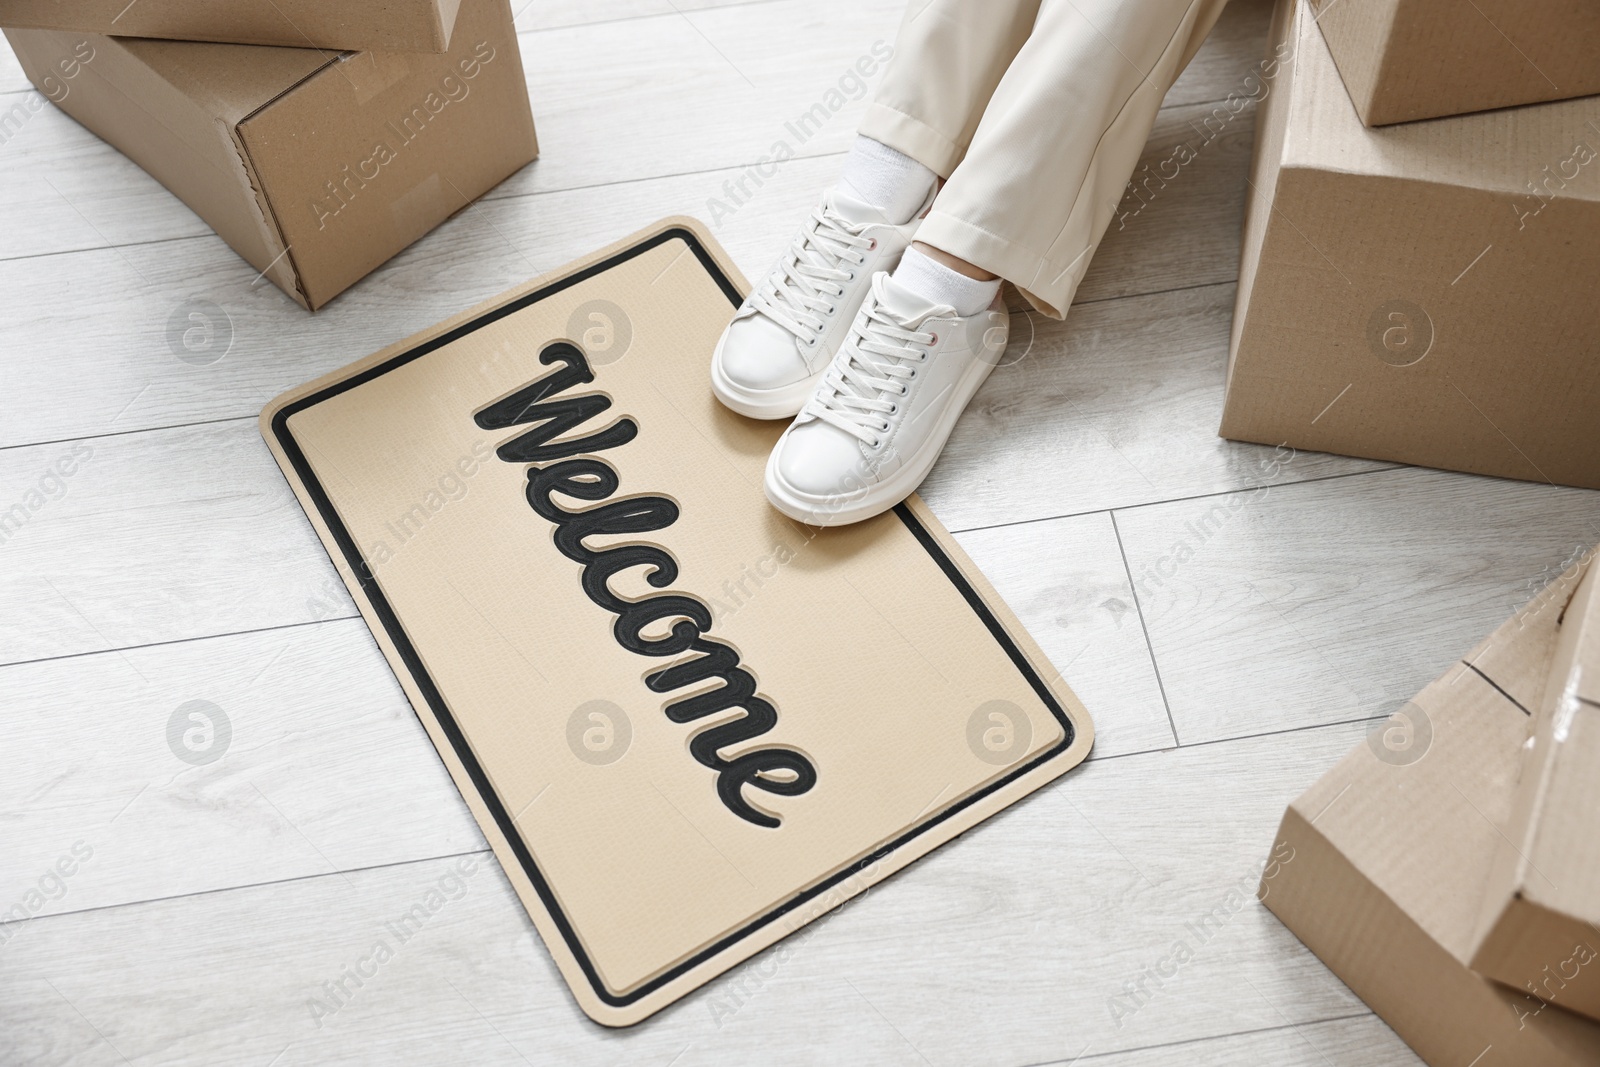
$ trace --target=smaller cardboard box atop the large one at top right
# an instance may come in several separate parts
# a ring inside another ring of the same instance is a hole
[[[1315,0],[1368,126],[1600,93],[1594,0]]]

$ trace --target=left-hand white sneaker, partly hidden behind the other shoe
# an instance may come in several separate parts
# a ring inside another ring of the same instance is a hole
[[[910,248],[933,190],[910,222],[894,226],[832,189],[778,266],[755,286],[717,342],[710,387],[755,419],[787,419],[811,397],[843,344],[872,275]]]

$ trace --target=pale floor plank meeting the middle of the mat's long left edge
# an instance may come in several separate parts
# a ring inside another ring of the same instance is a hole
[[[336,582],[310,600],[355,609]],[[3,888],[77,841],[94,853],[34,915],[485,848],[360,619],[13,665],[0,680]]]

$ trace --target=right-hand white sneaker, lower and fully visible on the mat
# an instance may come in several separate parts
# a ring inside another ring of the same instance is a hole
[[[1005,354],[1000,296],[976,315],[930,304],[890,275],[766,461],[766,499],[790,518],[872,518],[928,477],[955,421]]]

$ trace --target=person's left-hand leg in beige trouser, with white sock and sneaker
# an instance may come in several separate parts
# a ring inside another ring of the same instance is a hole
[[[800,411],[872,275],[899,264],[1037,11],[1038,0],[914,0],[838,186],[717,342],[718,400],[754,418]]]

